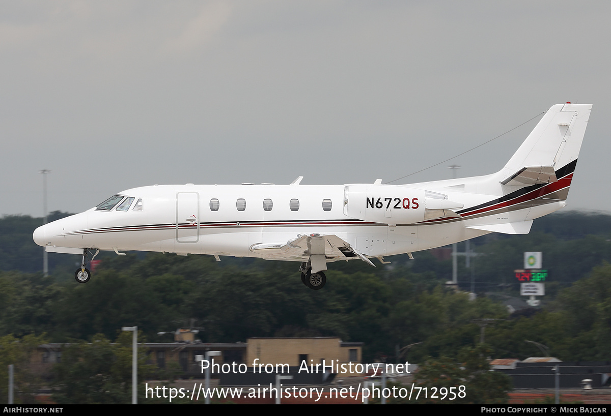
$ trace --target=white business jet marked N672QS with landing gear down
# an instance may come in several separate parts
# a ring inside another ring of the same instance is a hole
[[[497,173],[409,185],[153,185],[43,225],[34,241],[82,255],[161,251],[289,260],[310,289],[327,263],[445,246],[490,232],[527,234],[533,219],[565,206],[590,104],[549,109]]]

